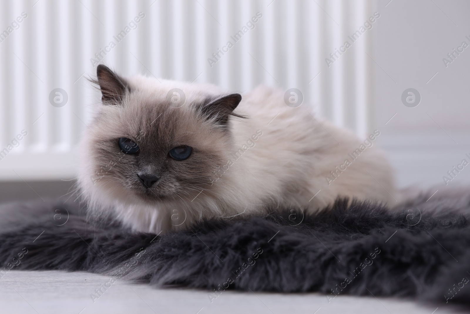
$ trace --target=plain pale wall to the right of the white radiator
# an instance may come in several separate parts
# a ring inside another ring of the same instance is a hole
[[[447,67],[442,60],[462,41],[470,45],[470,1],[381,0],[377,10],[376,128],[399,185],[437,185],[435,191],[470,183],[470,166],[447,186],[443,180],[470,161],[470,46]],[[407,88],[422,96],[414,108],[401,102]]]

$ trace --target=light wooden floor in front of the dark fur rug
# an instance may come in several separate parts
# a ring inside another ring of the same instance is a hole
[[[132,284],[122,279],[93,302],[90,295],[109,279],[86,273],[11,270],[0,279],[0,313],[431,314],[437,307],[372,296],[337,296],[328,303],[325,295],[316,293],[233,291],[224,291],[211,303],[209,291],[154,289],[146,284]],[[442,313],[456,312],[443,305],[433,314]]]

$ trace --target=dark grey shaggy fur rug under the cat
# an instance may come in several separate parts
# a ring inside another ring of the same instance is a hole
[[[0,277],[9,269],[88,271],[110,275],[102,289],[125,278],[209,289],[213,299],[237,289],[470,305],[470,196],[429,196],[393,209],[337,200],[314,215],[208,219],[163,236],[88,225],[73,203],[35,211],[10,204],[0,208]]]

